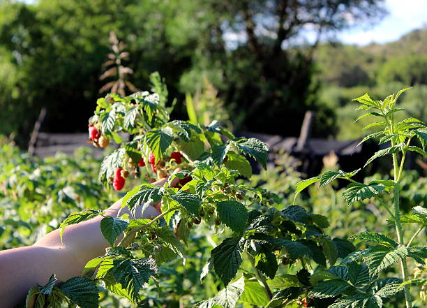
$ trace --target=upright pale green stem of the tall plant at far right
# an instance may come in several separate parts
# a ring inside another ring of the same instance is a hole
[[[396,154],[393,154],[393,161],[397,161]],[[397,174],[395,173],[395,182],[397,179]],[[399,184],[396,182],[394,186],[394,224],[396,226],[396,233],[398,237],[398,243],[400,245],[405,245],[403,242],[403,230],[402,223],[400,223],[400,191]],[[409,274],[407,272],[407,263],[406,257],[400,258],[400,267],[402,269],[402,277],[403,281],[407,281],[409,279]],[[410,285],[405,285],[405,302],[406,308],[412,308],[412,296],[410,292]]]

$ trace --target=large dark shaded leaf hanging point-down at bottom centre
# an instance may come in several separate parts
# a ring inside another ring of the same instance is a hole
[[[240,237],[227,238],[211,252],[213,268],[225,285],[236,276],[242,261],[239,241]]]

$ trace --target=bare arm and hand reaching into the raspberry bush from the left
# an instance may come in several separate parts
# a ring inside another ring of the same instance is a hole
[[[163,185],[166,181],[160,179],[153,184]],[[174,179],[172,186],[177,181]],[[105,215],[111,217],[125,213],[130,214],[127,207],[121,210],[121,199],[105,210]],[[148,207],[136,218],[152,218],[158,214],[160,204]],[[101,219],[103,217],[98,216],[67,226],[63,241],[57,229],[32,246],[0,251],[0,307],[13,308],[20,304],[25,300],[29,288],[37,284],[44,286],[52,274],[56,274],[59,281],[80,276],[89,260],[102,256],[105,249],[110,247],[100,232]]]

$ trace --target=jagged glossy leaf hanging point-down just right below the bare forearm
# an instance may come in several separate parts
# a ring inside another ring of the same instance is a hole
[[[135,302],[140,299],[140,288],[149,281],[151,276],[155,276],[158,271],[156,261],[151,258],[138,260],[121,258],[114,260],[113,264],[114,267],[109,272],[121,284],[121,288],[132,296]]]

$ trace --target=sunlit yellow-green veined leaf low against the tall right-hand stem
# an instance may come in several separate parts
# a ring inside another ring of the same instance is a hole
[[[373,276],[405,256],[407,249],[403,245],[394,248],[376,245],[369,247],[363,258],[369,267],[370,275]]]

